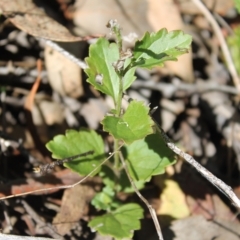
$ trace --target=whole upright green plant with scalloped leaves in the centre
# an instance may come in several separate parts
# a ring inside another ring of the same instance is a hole
[[[131,238],[140,228],[143,209],[135,203],[123,204],[119,192],[132,193],[144,187],[153,175],[162,174],[174,163],[173,153],[162,136],[154,132],[154,121],[144,102],[132,100],[123,112],[123,94],[135,80],[137,67],[151,69],[165,61],[187,52],[191,37],[181,31],[145,33],[135,43],[133,51],[123,51],[120,27],[110,21],[109,27],[116,36],[116,43],[99,38],[90,46],[86,58],[87,81],[97,90],[112,97],[114,109],[102,120],[103,130],[114,138],[114,157],[108,164],[103,139],[93,130],[68,130],[47,143],[52,157],[63,159],[86,151],[94,154],[65,163],[65,166],[81,175],[99,174],[105,185],[94,197],[92,204],[106,214],[96,217],[89,226],[103,235],[115,239]]]

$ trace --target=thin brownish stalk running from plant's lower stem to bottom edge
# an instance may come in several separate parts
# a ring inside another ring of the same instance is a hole
[[[126,163],[124,161],[124,158],[123,158],[123,155],[121,152],[119,152],[119,157],[121,159],[121,162],[122,162],[122,165],[125,169],[125,172],[127,174],[127,177],[134,189],[134,191],[136,192],[136,194],[138,195],[138,197],[145,203],[145,205],[148,207],[149,209],[149,212],[151,214],[151,217],[152,217],[152,220],[154,222],[154,225],[155,225],[155,228],[156,228],[156,231],[157,231],[157,234],[158,234],[158,237],[159,237],[159,240],[163,240],[163,236],[162,236],[162,231],[161,231],[161,227],[160,227],[160,224],[158,222],[158,219],[157,219],[157,214],[155,212],[155,210],[153,209],[153,207],[148,203],[147,199],[143,197],[143,195],[138,191],[137,189],[137,186],[135,185],[132,177],[130,176],[129,172],[128,172],[128,169],[127,169],[127,166],[126,166]]]

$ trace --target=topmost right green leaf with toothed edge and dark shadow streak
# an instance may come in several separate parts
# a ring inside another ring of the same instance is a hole
[[[146,32],[133,49],[132,66],[152,68],[165,61],[177,60],[188,51],[192,37],[182,31],[168,32],[161,29],[156,33]]]

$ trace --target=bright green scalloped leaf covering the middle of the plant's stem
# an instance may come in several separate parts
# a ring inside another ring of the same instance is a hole
[[[153,132],[154,125],[148,115],[149,107],[143,102],[130,102],[126,112],[121,117],[107,116],[103,119],[103,130],[130,144],[135,140],[144,138]]]

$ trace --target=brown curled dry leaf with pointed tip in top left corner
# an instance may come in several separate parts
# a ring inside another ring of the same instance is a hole
[[[35,37],[59,42],[82,40],[50,18],[32,0],[0,0],[0,10],[16,27]]]

